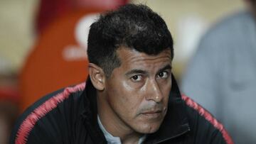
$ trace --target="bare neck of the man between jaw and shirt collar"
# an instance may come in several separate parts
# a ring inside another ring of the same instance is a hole
[[[97,112],[105,130],[114,137],[119,137],[123,144],[139,142],[139,138],[141,138],[143,134],[137,133],[127,126],[127,124],[117,116],[117,113],[112,111],[105,97],[101,94],[97,94]]]

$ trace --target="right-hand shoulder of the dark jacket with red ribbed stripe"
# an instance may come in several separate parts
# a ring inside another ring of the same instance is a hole
[[[188,96],[182,95],[182,99],[186,104],[188,123],[191,127],[190,135],[196,143],[233,144],[222,123]]]

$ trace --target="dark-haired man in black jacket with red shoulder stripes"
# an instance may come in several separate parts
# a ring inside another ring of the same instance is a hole
[[[173,40],[147,6],[92,23],[85,84],[59,90],[21,116],[11,143],[232,143],[171,75]],[[200,113],[199,113],[200,111]]]

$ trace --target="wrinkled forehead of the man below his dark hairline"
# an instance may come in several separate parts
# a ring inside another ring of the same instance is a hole
[[[155,65],[171,64],[171,50],[166,49],[158,55],[147,55],[144,52],[130,50],[128,48],[119,48],[117,55],[121,60],[123,67],[154,67]]]

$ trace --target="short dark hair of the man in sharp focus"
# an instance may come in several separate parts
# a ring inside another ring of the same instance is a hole
[[[88,36],[89,61],[102,67],[107,77],[121,62],[117,49],[121,46],[157,55],[171,50],[174,57],[173,39],[164,20],[148,6],[127,4],[116,11],[102,14],[92,23]]]

